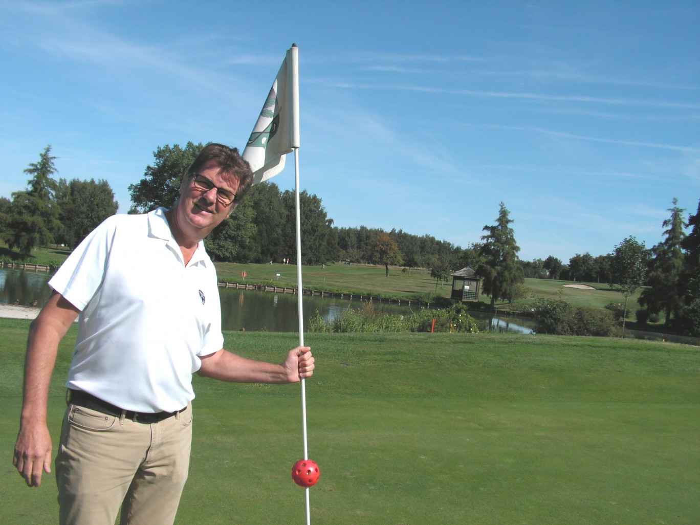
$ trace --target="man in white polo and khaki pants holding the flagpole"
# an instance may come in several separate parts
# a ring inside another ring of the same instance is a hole
[[[290,383],[310,377],[307,347],[281,365],[223,350],[216,270],[202,239],[253,180],[238,151],[209,144],[170,210],[117,215],[64,262],[31,323],[13,464],[28,486],[50,472],[48,385],[76,316],[68,407],[56,457],[59,522],[172,524],[189,466],[192,374]]]

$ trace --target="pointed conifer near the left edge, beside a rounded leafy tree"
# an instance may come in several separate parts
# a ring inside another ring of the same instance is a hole
[[[6,213],[3,240],[11,249],[22,255],[38,246],[46,246],[53,240],[53,232],[59,229],[58,208],[54,197],[58,183],[52,178],[58,172],[46,146],[39,155],[39,162],[31,162],[25,173],[31,175],[25,191],[14,192],[12,204]]]

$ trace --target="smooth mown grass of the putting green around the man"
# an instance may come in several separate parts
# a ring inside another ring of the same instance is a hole
[[[10,465],[27,321],[0,320],[0,522],[55,522],[55,484]],[[74,328],[72,329],[74,330]],[[74,332],[71,331],[70,337]],[[227,332],[279,360],[297,335]],[[699,350],[597,337],[307,334],[314,524],[694,524]],[[62,344],[52,382],[57,439]],[[194,378],[190,478],[178,524],[304,521],[298,385]]]

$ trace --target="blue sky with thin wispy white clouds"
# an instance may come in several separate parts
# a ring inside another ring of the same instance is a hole
[[[503,201],[521,258],[568,262],[697,208],[698,1],[0,1],[0,196],[51,144],[125,213],[158,146],[244,146],[292,43],[337,226],[465,247]]]

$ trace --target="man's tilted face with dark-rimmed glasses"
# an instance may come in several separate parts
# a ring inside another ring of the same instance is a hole
[[[180,228],[196,232],[196,237],[204,239],[233,210],[232,204],[223,204],[217,199],[217,188],[222,192],[219,193],[220,196],[223,193],[235,195],[238,181],[234,176],[222,173],[214,162],[204,165],[199,174],[209,179],[214,188],[204,190],[195,184],[194,176],[188,177],[178,200],[177,214]]]

